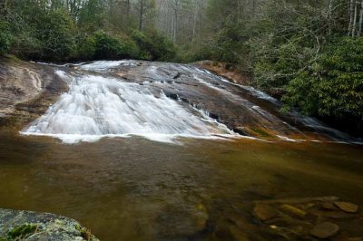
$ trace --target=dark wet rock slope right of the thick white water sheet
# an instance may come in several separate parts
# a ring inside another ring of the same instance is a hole
[[[331,130],[317,120],[304,118],[297,112],[282,113],[280,101],[263,92],[193,65],[134,61],[108,69],[86,67],[85,70],[138,82],[155,95],[164,92],[186,108],[192,106],[208,112],[211,118],[241,135],[261,139],[290,136],[294,139],[348,140],[345,134]]]

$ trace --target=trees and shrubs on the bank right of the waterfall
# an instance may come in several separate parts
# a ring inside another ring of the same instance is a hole
[[[205,12],[208,31],[182,58],[233,63],[283,110],[363,136],[363,1],[210,0]]]

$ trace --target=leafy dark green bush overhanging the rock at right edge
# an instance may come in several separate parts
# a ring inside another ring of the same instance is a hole
[[[363,116],[363,38],[342,38],[286,86],[283,100],[307,114]]]

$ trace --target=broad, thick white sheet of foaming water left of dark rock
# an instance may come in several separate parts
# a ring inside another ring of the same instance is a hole
[[[117,64],[123,64],[121,62]],[[108,63],[83,65],[106,70]],[[67,76],[70,90],[22,133],[52,136],[66,143],[94,141],[103,137],[142,136],[171,142],[177,137],[218,138],[233,136],[225,125],[182,106],[163,93],[154,96],[145,86],[96,75]]]

